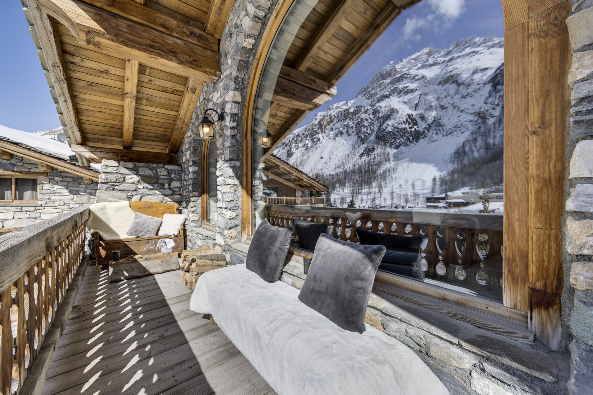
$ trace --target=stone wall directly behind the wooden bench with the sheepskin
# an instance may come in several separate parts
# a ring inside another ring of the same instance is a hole
[[[179,203],[180,166],[103,160],[97,203],[126,200]]]

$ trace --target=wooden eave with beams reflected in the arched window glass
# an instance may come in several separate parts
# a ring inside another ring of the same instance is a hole
[[[295,34],[272,97],[264,97],[271,105],[262,119],[272,134],[264,158],[308,113],[336,94],[334,84],[401,11],[417,2],[336,0],[315,5]]]

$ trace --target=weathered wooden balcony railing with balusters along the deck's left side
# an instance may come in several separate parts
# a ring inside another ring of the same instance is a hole
[[[19,393],[84,254],[88,208],[0,236],[0,393]]]

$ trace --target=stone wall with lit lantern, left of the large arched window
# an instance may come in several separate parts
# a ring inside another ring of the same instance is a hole
[[[243,262],[244,259],[244,254],[238,255],[238,251],[243,250],[242,246],[231,247],[241,241],[244,98],[263,27],[272,14],[275,3],[276,0],[235,2],[221,40],[221,79],[212,84],[204,84],[179,155],[184,181],[181,207],[189,218],[188,245],[216,243],[222,246],[229,256],[233,256],[233,261],[237,263]],[[200,228],[202,142],[197,127],[206,108],[224,111],[224,120],[217,123],[214,137],[218,147],[216,233]]]

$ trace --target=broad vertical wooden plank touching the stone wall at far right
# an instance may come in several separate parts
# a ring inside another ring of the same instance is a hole
[[[530,330],[553,350],[560,341],[563,285],[570,9],[565,1],[529,18]]]

